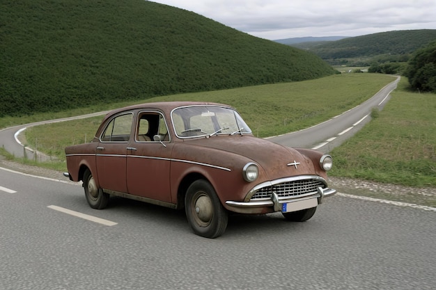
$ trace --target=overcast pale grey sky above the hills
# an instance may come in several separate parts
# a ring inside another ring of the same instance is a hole
[[[436,0],[152,0],[279,40],[436,29]]]

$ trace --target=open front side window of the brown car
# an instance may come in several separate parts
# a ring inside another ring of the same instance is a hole
[[[136,140],[139,142],[159,140],[169,141],[168,128],[164,116],[157,112],[144,112],[139,114]]]

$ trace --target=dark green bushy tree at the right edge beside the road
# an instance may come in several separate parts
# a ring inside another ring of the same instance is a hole
[[[409,78],[412,88],[436,92],[436,41],[415,51],[405,76]]]

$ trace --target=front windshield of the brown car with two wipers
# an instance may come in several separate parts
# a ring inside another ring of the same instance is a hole
[[[238,112],[221,106],[176,108],[171,118],[174,130],[180,138],[251,133]]]

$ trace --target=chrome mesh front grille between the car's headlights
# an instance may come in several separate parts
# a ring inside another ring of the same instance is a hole
[[[325,184],[319,179],[302,179],[292,182],[283,182],[281,184],[274,184],[273,186],[265,186],[260,188],[251,197],[251,200],[259,198],[271,198],[274,191],[279,198],[297,197],[307,193],[316,193],[317,188],[325,188]]]

